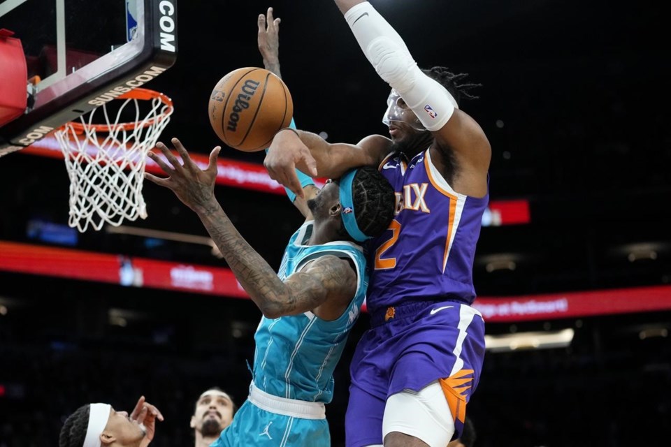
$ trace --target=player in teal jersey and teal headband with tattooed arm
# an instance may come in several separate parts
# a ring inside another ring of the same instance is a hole
[[[384,231],[394,191],[375,168],[347,171],[307,201],[305,223],[291,236],[279,272],[250,247],[215,198],[217,154],[201,170],[173,138],[182,162],[159,142],[170,177],[145,174],[171,189],[200,217],[229,268],[263,312],[254,335],[250,394],[212,447],[329,447],[325,404],[333,370],[366,295],[368,272],[359,244]],[[270,225],[269,229],[273,226]]]

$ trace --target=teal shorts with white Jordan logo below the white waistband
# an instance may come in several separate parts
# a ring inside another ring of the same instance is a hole
[[[210,447],[277,446],[330,447],[326,419],[303,419],[271,413],[246,400]]]

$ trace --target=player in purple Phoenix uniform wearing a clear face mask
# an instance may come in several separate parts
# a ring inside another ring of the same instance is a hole
[[[277,133],[266,168],[301,196],[295,167],[339,177],[379,166],[396,191],[396,217],[368,244],[372,328],[352,360],[347,446],[445,447],[461,434],[484,358],[484,322],[472,263],[489,200],[491,147],[459,110],[473,85],[446,68],[420,70],[367,1],[335,0],[361,49],[391,85],[390,138],[329,144],[305,131]]]

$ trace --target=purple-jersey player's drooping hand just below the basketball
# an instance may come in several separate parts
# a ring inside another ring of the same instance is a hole
[[[310,177],[317,177],[317,161],[301,138],[292,131],[281,131],[275,135],[264,166],[271,179],[286,186],[300,198],[305,198],[305,194],[296,175],[296,166]]]

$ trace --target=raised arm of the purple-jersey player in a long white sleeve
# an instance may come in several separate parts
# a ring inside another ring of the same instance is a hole
[[[454,154],[460,169],[469,177],[477,177],[477,181],[464,185],[466,191],[459,192],[484,196],[491,147],[480,126],[459,110],[454,96],[443,85],[417,66],[401,36],[368,1],[335,3],[380,78],[398,92],[403,106],[417,115],[424,129],[433,133],[435,155],[445,157],[436,161],[447,163]]]

